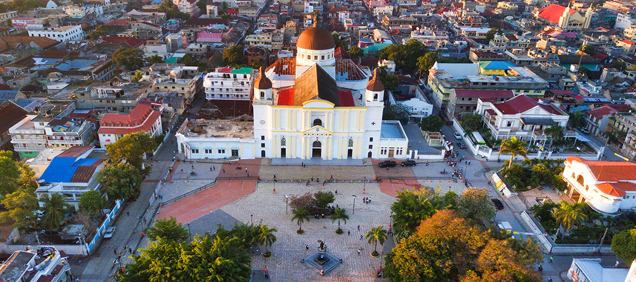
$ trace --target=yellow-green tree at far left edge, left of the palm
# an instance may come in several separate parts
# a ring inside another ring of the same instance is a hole
[[[28,227],[36,220],[34,211],[38,210],[38,198],[31,191],[18,189],[0,201],[7,211],[0,213],[0,222],[13,222],[13,227]]]

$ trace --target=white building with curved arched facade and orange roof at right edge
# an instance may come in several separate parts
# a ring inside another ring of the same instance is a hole
[[[635,163],[570,156],[565,160],[563,179],[567,182],[567,196],[588,203],[604,215],[619,215],[636,206]]]

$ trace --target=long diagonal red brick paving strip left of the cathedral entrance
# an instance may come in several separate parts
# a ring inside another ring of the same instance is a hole
[[[241,170],[237,170],[236,166],[240,164]],[[261,159],[246,159],[241,161],[233,161],[223,163],[221,170],[225,168],[228,177],[233,174],[241,177],[245,176],[245,167],[251,176],[258,175]],[[223,172],[219,177],[223,177]],[[197,192],[186,198],[180,199],[170,205],[164,206],[159,210],[157,218],[165,219],[170,217],[177,218],[178,222],[186,223],[195,220],[210,211],[214,211],[222,206],[228,205],[237,199],[243,198],[256,191],[256,180],[219,180],[216,185]]]

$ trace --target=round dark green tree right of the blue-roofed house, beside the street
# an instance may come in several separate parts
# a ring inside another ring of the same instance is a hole
[[[108,164],[97,174],[100,185],[108,198],[128,199],[141,187],[141,171],[130,163]]]

